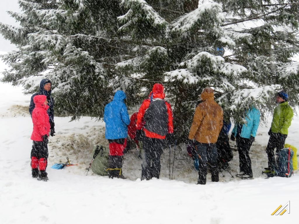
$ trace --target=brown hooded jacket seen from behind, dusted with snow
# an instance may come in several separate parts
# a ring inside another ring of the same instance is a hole
[[[201,98],[203,102],[196,107],[189,139],[201,143],[216,143],[223,125],[223,111],[214,101],[214,91],[211,88],[205,88]]]

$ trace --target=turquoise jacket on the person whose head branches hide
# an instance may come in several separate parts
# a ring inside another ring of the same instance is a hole
[[[254,107],[249,109],[246,113],[245,120],[246,123],[242,126],[240,136],[246,139],[249,139],[250,136],[255,137],[255,135],[257,134],[257,128],[260,123],[260,111]],[[238,124],[235,124],[234,129],[231,132],[231,134],[234,134],[234,136],[237,136],[237,127]]]

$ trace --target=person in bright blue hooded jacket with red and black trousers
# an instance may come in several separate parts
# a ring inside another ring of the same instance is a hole
[[[126,148],[128,125],[130,123],[128,110],[124,103],[125,99],[126,94],[122,90],[118,90],[112,102],[105,106],[105,138],[109,141],[109,178],[125,178],[122,174],[123,150]]]

